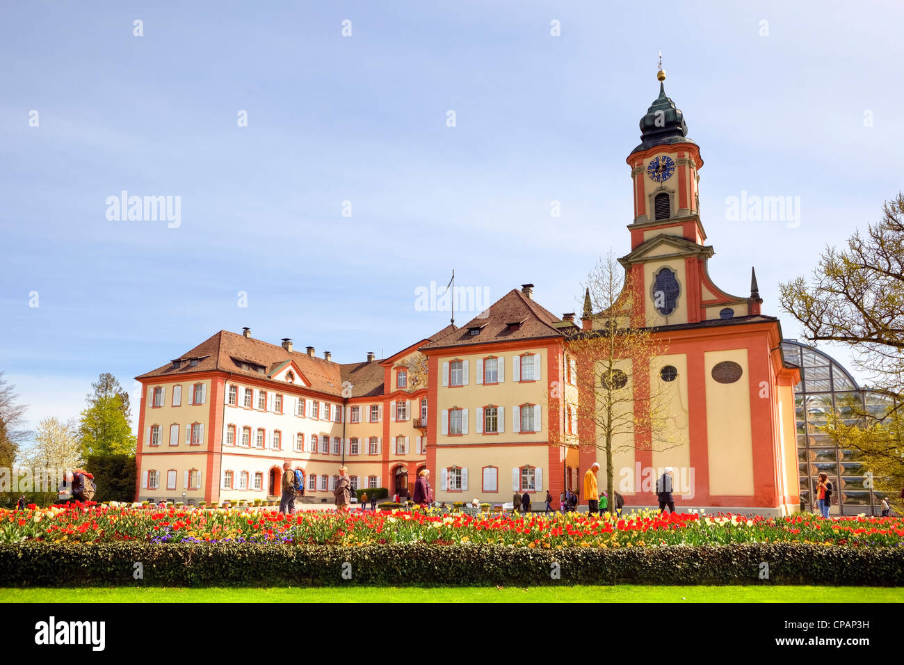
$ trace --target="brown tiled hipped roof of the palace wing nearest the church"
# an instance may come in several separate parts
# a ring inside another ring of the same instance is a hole
[[[521,322],[517,328],[509,324]],[[555,327],[560,318],[543,308],[520,290],[513,289],[496,300],[489,308],[472,318],[461,328],[447,326],[433,341],[420,347],[425,350],[445,347],[467,347],[487,342],[507,342],[541,337],[564,337]],[[471,335],[468,328],[480,327],[479,335]]]

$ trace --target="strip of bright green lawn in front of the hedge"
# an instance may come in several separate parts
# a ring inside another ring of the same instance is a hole
[[[0,589],[0,603],[901,603],[877,586],[534,586]]]

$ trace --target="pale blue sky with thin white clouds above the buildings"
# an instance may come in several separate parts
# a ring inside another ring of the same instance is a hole
[[[660,51],[711,277],[743,296],[756,266],[802,338],[778,284],[902,188],[904,5],[669,6],[4,2],[0,370],[29,426],[78,416],[102,372],[135,394],[220,329],[391,355],[447,325],[416,294],[452,270],[579,312],[594,262],[630,251]],[[173,214],[118,219],[123,191]],[[741,196],[796,217],[738,219]]]

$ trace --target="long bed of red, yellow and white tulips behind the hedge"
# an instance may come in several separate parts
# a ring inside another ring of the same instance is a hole
[[[641,511],[611,514],[537,513],[508,516],[419,511],[307,511],[285,515],[258,509],[146,509],[131,506],[0,510],[0,543],[140,541],[237,542],[274,545],[368,546],[475,544],[541,549],[570,547],[720,546],[738,543],[813,543],[900,547],[904,519],[811,514],[788,518]]]

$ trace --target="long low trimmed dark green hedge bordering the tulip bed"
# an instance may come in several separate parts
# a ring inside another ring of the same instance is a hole
[[[136,580],[135,564],[144,579]],[[761,578],[762,564],[768,577]],[[348,565],[351,565],[351,568]],[[560,571],[558,578],[551,572]],[[346,576],[343,576],[343,573]],[[351,578],[348,579],[349,573]],[[800,544],[547,550],[474,545],[257,543],[0,546],[0,586],[541,584],[904,585],[904,549]]]

